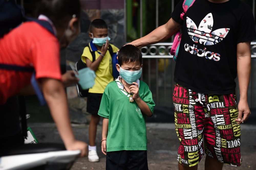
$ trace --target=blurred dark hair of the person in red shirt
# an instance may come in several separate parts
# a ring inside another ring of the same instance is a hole
[[[81,5],[79,0],[42,0],[39,13],[47,16],[55,27],[63,27],[67,17],[80,18]]]

